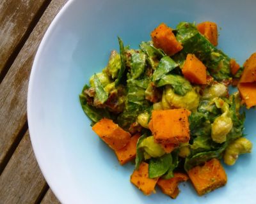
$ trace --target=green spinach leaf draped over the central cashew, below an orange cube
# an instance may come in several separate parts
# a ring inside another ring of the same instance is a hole
[[[164,75],[158,82],[156,82],[157,87],[167,84],[170,84],[175,94],[179,94],[180,96],[184,96],[192,89],[189,81],[179,75]]]

